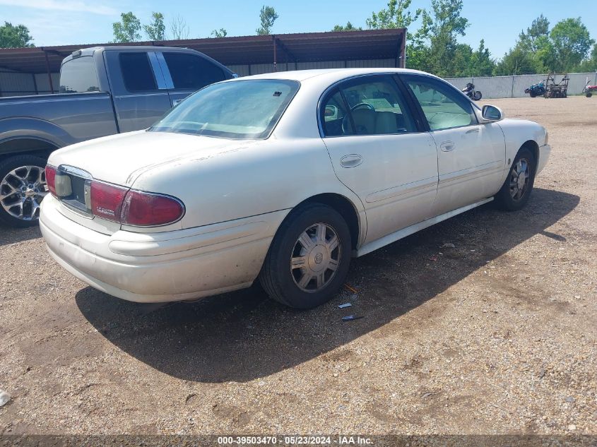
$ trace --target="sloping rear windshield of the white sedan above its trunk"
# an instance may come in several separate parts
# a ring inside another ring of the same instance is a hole
[[[299,88],[296,81],[255,79],[209,85],[149,130],[222,138],[267,138]]]

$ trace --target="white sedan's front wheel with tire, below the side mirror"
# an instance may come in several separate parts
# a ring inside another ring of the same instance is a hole
[[[524,208],[533,191],[536,169],[537,161],[533,152],[528,148],[521,148],[514,158],[502,188],[495,195],[497,206],[507,211]],[[522,175],[524,178],[521,178]]]

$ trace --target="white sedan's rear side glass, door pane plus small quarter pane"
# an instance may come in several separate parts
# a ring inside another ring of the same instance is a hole
[[[324,136],[417,131],[403,95],[395,81],[386,76],[357,78],[339,85],[322,103],[320,120]]]

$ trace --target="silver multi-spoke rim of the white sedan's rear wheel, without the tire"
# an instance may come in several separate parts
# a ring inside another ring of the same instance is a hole
[[[290,258],[290,273],[303,292],[317,292],[332,280],[341,258],[338,234],[317,223],[300,234]]]

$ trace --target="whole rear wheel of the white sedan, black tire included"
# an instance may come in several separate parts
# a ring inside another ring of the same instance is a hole
[[[276,301],[311,309],[343,285],[351,249],[350,230],[336,210],[321,203],[301,205],[276,232],[259,280]]]

